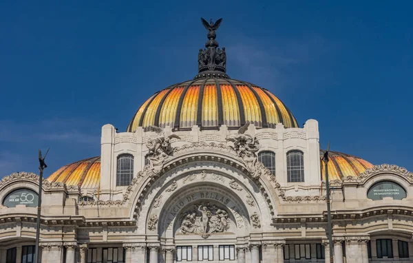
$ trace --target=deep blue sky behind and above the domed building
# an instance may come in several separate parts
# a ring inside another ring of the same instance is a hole
[[[0,177],[100,154],[146,98],[197,73],[200,17],[228,74],[266,87],[322,145],[413,171],[412,1],[2,1]]]

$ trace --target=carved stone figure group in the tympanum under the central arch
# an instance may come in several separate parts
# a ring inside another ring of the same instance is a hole
[[[209,203],[195,204],[182,216],[179,232],[184,235],[201,235],[209,238],[213,233],[222,233],[229,229],[228,212]]]

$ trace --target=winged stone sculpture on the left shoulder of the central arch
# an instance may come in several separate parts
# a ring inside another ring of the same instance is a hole
[[[149,153],[145,156],[149,161],[149,165],[145,165],[143,170],[138,173],[138,177],[149,175],[150,177],[158,176],[163,169],[165,160],[172,155],[173,147],[171,147],[171,139],[180,137],[176,134],[163,136],[163,129],[156,126],[150,127],[159,134],[159,137],[151,138],[147,141],[146,147]]]

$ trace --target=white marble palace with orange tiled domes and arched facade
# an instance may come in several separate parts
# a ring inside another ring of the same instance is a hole
[[[198,75],[102,127],[100,156],[43,185],[42,263],[413,262],[413,173],[330,152],[317,120],[226,75],[215,25]],[[0,262],[33,262],[39,176],[0,182]]]

